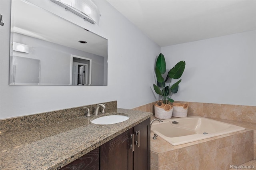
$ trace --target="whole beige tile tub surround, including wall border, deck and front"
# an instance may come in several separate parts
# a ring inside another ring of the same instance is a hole
[[[176,101],[185,103],[184,101]],[[154,103],[134,108],[154,114]],[[223,136],[172,146],[162,138],[151,139],[152,170],[225,170],[256,159],[256,107],[214,103],[188,103],[188,116],[202,116],[247,128]],[[250,130],[252,129],[252,130]],[[151,133],[153,135],[153,133]],[[151,136],[153,137],[153,136]],[[212,140],[212,141],[209,141]],[[202,142],[202,143],[200,143]],[[192,146],[189,146],[192,145]],[[154,150],[156,152],[154,152]]]

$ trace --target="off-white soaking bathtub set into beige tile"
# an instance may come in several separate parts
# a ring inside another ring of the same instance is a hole
[[[151,131],[174,146],[245,129],[200,116],[166,119],[162,121],[162,123],[154,121]],[[178,124],[174,124],[174,121],[178,122]]]

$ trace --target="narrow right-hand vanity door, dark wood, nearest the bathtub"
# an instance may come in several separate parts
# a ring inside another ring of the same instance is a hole
[[[150,118],[134,127],[134,170],[150,170]]]

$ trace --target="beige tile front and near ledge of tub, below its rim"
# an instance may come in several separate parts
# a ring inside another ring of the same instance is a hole
[[[153,133],[151,133],[153,137]],[[162,138],[151,139],[152,170],[228,170],[253,159],[253,130],[172,146]]]

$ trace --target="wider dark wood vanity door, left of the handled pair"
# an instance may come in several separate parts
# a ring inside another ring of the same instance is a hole
[[[100,146],[101,170],[132,170],[133,152],[130,149],[133,128]]]

